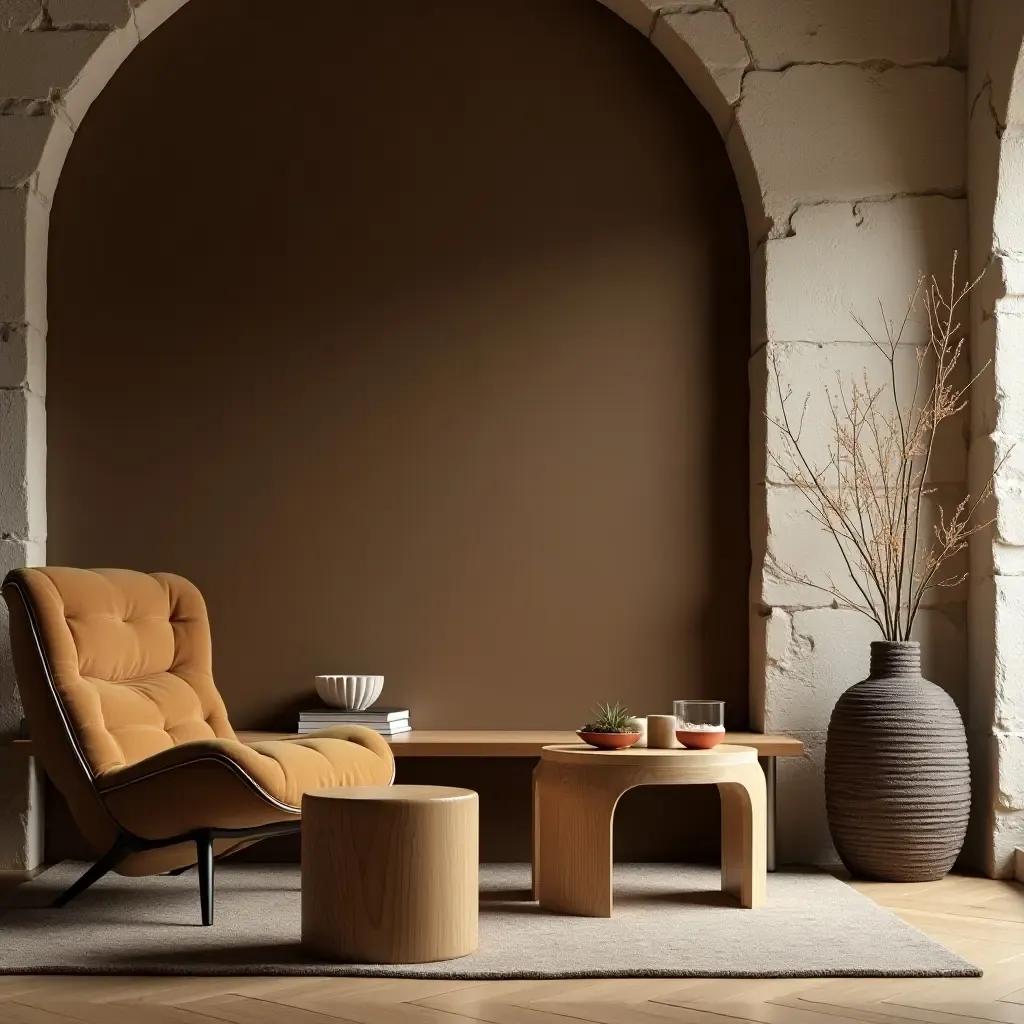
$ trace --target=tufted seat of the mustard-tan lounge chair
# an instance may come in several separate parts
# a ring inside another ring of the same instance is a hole
[[[115,820],[144,839],[194,828],[249,828],[297,817],[302,795],[334,785],[386,785],[387,742],[371,729],[340,726],[247,745],[201,739],[103,773],[100,797]]]

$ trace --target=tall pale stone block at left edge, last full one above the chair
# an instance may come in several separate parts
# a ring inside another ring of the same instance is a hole
[[[46,412],[31,391],[0,391],[0,536],[46,538]]]

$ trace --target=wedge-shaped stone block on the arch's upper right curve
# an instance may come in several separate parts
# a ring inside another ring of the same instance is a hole
[[[732,19],[721,10],[665,14],[650,38],[724,136],[751,62]]]

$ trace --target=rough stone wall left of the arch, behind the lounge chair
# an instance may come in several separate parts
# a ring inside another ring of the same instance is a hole
[[[46,561],[46,240],[75,129],[122,60],[184,0],[0,0],[0,573]],[[43,855],[36,766],[0,607],[0,869]]]

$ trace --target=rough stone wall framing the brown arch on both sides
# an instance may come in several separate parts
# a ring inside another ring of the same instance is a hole
[[[60,165],[92,98],[139,41],[183,2],[0,0],[4,566],[44,558],[46,227]],[[703,103],[725,140],[743,197],[755,310],[752,719],[757,727],[795,733],[807,744],[803,760],[780,765],[781,858],[828,860],[824,733],[839,693],[866,672],[871,634],[856,613],[829,607],[806,588],[764,577],[769,546],[803,564],[831,557],[801,515],[797,496],[766,471],[764,345],[770,340],[779,346],[796,394],[817,394],[837,371],[859,373],[871,362],[871,349],[851,312],[870,323],[879,297],[891,313],[899,312],[919,272],[943,271],[953,249],[966,251],[964,5],[954,0],[600,2],[648,36]],[[812,430],[823,423],[821,407],[814,409]],[[962,447],[951,445],[936,478],[948,493],[964,486]],[[965,595],[947,598],[923,615],[921,639],[933,678],[966,707]],[[994,601],[990,605],[996,607]],[[0,730],[9,735],[17,718],[3,654]],[[31,817],[25,810],[29,780],[3,762],[0,771],[12,808]],[[3,834],[10,830],[6,821],[0,825]],[[18,840],[0,849],[0,866],[24,866],[35,855],[28,841]]]

